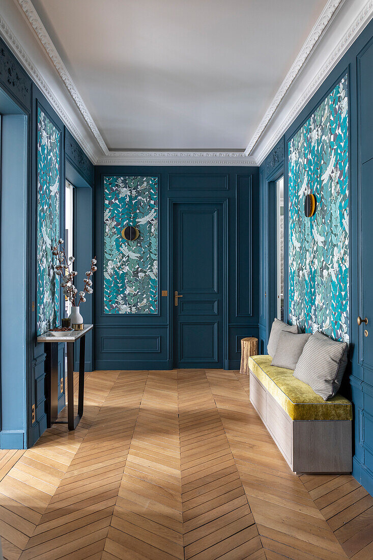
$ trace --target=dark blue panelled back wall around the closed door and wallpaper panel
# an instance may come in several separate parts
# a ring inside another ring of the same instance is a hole
[[[159,198],[158,288],[168,290],[159,297],[157,314],[108,315],[102,305],[102,270],[95,283],[95,367],[104,369],[172,368],[173,300],[171,294],[171,217],[172,202],[198,200],[226,202],[227,265],[229,305],[223,325],[223,366],[240,365],[240,340],[258,336],[259,319],[259,185],[256,167],[96,167],[95,253],[102,262],[102,188],[105,175],[156,176]],[[203,244],[203,224],[201,224]],[[196,255],[198,246],[195,247]],[[158,340],[154,346],[155,338]],[[203,365],[202,365],[203,366]]]

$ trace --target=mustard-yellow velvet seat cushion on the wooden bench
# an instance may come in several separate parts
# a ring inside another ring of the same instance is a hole
[[[271,366],[271,356],[251,356],[250,370],[292,420],[352,420],[352,405],[342,395],[324,400],[293,370]]]

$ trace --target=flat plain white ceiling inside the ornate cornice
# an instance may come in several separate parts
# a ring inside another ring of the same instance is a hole
[[[110,150],[244,150],[326,0],[33,0]]]

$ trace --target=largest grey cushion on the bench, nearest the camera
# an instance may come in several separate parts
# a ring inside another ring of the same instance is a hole
[[[324,400],[338,393],[347,366],[348,345],[322,333],[314,333],[306,343],[294,371]]]

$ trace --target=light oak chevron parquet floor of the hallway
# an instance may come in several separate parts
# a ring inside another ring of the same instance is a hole
[[[75,432],[0,451],[5,558],[373,558],[373,498],[288,468],[236,371],[95,371]]]

